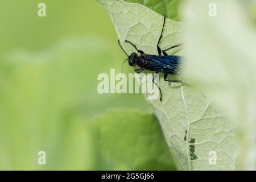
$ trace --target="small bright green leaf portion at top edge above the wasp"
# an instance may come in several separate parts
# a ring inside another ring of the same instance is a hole
[[[166,16],[170,19],[179,21],[179,8],[184,0],[126,0],[127,2],[139,3],[141,5],[147,6],[148,8],[154,10],[162,16]]]

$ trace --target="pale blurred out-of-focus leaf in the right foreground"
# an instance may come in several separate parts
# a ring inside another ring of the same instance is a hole
[[[205,13],[209,3],[193,0],[184,7],[184,19],[191,24],[184,34],[189,57],[184,76],[237,122],[242,146],[238,167],[255,170],[255,28],[241,2],[216,0],[216,17]]]

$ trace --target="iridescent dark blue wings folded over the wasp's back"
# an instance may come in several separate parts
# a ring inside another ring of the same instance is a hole
[[[179,69],[182,66],[180,56],[144,55],[144,58],[150,61],[150,64],[147,65],[147,69],[170,75],[179,74]]]

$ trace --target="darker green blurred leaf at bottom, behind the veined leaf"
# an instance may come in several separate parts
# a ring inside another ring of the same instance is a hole
[[[154,114],[110,110],[86,125],[94,138],[97,170],[175,170]]]

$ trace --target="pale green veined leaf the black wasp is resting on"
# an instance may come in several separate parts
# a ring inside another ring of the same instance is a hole
[[[98,0],[109,11],[122,46],[134,52],[130,40],[148,54],[157,54],[156,45],[163,26],[163,16],[145,6],[121,0]],[[166,21],[162,49],[184,42],[185,24]],[[183,56],[179,48],[168,52]],[[175,78],[172,76],[169,79]],[[146,82],[144,82],[145,84]],[[233,122],[221,109],[198,90],[160,78],[163,101],[148,100],[162,126],[168,146],[174,152],[179,169],[234,169],[238,155]],[[147,95],[145,95],[147,98]],[[190,141],[190,142],[189,142]],[[209,163],[209,154],[216,152],[217,163]]]

